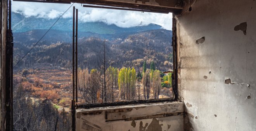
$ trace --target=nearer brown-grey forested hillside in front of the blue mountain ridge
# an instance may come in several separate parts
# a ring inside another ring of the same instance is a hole
[[[33,30],[14,35],[14,63],[16,64],[44,30]],[[55,66],[71,68],[72,46],[71,40],[66,40],[67,32],[61,34],[50,33],[42,40],[18,65],[31,67],[35,63],[48,63]],[[17,37],[16,37],[17,36]],[[62,40],[62,41],[61,41]],[[61,42],[57,42],[61,41]],[[97,36],[82,37],[78,40],[78,66],[82,68],[97,68],[99,54],[104,40]],[[134,67],[140,66],[144,60],[151,61],[161,70],[170,68],[165,61],[172,62],[169,55],[171,48],[171,31],[149,30],[127,35],[124,39],[106,40],[106,55],[109,66]]]

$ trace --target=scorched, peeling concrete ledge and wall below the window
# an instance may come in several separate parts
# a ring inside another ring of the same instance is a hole
[[[77,131],[183,131],[184,103],[76,109]]]

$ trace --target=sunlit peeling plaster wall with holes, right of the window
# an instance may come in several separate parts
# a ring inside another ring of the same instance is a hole
[[[255,131],[256,1],[185,4],[175,16],[185,131]]]

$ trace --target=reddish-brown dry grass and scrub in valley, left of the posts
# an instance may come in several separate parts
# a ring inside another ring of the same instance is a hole
[[[54,104],[69,107],[72,98],[71,70],[39,68],[28,69],[28,72],[26,77],[22,76],[21,71],[14,73],[14,79],[19,79],[14,82],[19,82],[17,84],[33,97],[50,99]]]

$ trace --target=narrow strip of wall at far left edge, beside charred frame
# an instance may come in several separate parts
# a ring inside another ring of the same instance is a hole
[[[5,56],[6,56],[6,31],[7,31],[7,9],[8,9],[8,1],[7,0],[1,0],[0,1],[0,119],[1,119],[1,131],[5,131],[5,123],[6,123],[6,105],[5,105],[5,81],[2,80],[5,77]]]

